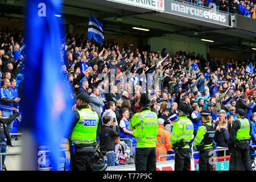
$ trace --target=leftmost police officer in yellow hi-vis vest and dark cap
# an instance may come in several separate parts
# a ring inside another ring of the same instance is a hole
[[[81,93],[77,96],[75,122],[69,138],[72,171],[92,171],[96,152],[96,138],[100,135],[99,117],[89,109],[90,97]]]

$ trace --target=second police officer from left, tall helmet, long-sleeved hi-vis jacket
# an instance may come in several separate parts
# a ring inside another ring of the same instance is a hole
[[[158,134],[158,116],[149,107],[148,94],[142,93],[139,105],[140,113],[131,118],[130,129],[137,141],[135,150],[136,171],[156,171],[156,135]]]

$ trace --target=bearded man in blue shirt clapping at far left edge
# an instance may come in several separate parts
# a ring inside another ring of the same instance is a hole
[[[4,78],[1,81],[1,88],[0,88],[0,110],[2,111],[2,116],[9,118],[11,115],[13,115],[13,104],[18,103],[20,101],[19,97],[14,98],[11,94],[9,88],[11,86],[10,80],[7,78]],[[8,126],[9,133],[13,130],[13,122],[10,123]]]

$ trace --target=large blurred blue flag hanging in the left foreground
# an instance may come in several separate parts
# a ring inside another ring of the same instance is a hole
[[[61,140],[68,137],[73,118],[72,90],[61,72],[61,4],[61,0],[27,1],[27,59],[20,103],[23,131],[32,134],[37,146],[48,146],[55,170]]]

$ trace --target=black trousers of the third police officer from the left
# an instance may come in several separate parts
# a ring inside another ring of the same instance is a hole
[[[189,148],[176,148],[174,158],[175,171],[190,171],[190,152]]]

